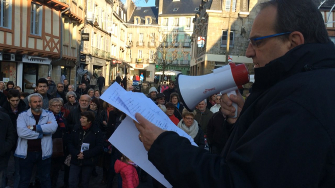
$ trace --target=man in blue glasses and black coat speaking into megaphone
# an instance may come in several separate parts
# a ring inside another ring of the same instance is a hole
[[[249,42],[255,81],[245,102],[223,95],[234,127],[221,155],[137,113],[149,161],[175,188],[335,188],[335,46],[323,16],[312,0],[261,3]]]

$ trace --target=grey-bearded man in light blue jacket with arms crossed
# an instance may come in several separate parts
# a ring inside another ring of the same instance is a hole
[[[42,99],[41,94],[30,94],[30,109],[20,113],[17,120],[19,139],[14,156],[20,158],[20,188],[29,186],[34,165],[42,188],[51,188],[52,134],[58,125],[54,114],[42,109]]]

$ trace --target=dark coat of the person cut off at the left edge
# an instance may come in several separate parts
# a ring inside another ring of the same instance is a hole
[[[8,155],[15,145],[15,129],[10,117],[0,112],[0,170],[8,166]]]

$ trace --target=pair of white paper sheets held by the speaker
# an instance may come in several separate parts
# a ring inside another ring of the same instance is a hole
[[[192,145],[197,146],[192,137],[179,129],[168,118],[167,114],[143,93],[127,92],[115,82],[100,98],[127,114],[126,119],[123,120],[108,141],[165,187],[171,188],[172,186],[163,174],[147,158],[147,150],[140,142],[138,138],[140,132],[138,132],[133,122],[133,120],[137,121],[135,113],[140,113],[148,121],[163,130],[177,132],[180,136],[186,137]]]

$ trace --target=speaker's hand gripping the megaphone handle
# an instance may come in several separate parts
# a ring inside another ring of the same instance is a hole
[[[230,98],[227,94],[223,94],[221,96],[221,112],[225,115],[225,116],[234,116],[235,115],[235,108],[232,105],[232,103],[237,103],[238,109],[237,109],[237,117],[240,115],[240,112],[243,108],[244,105],[244,99],[242,97],[242,95],[240,94],[240,92],[236,91],[237,95],[230,95]],[[235,123],[236,118],[227,118],[228,123]]]

